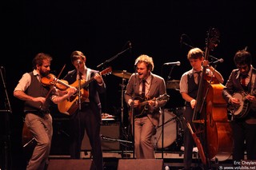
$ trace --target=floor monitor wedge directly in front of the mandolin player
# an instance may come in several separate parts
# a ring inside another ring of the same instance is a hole
[[[118,170],[161,170],[164,169],[163,160],[155,159],[124,159],[118,161]]]

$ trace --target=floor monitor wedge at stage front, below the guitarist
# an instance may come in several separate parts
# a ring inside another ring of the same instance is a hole
[[[92,160],[50,160],[47,170],[90,170]]]

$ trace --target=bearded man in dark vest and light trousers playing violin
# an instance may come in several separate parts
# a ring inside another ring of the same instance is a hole
[[[54,86],[42,85],[42,77],[50,73],[52,57],[47,53],[38,53],[33,61],[33,71],[24,73],[14,89],[14,97],[25,101],[24,124],[33,134],[36,146],[26,166],[27,170],[43,170],[48,164],[50,145],[53,135],[50,103],[57,104],[76,92],[70,88],[66,93],[60,92]]]

